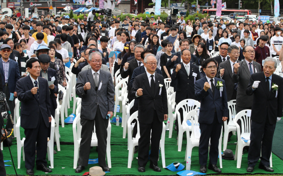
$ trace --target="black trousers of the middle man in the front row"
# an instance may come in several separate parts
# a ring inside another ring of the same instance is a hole
[[[139,153],[138,165],[145,167],[148,162],[149,146],[151,142],[150,161],[157,166],[159,158],[159,145],[162,135],[162,122],[159,121],[156,111],[151,124],[139,123],[140,126],[140,139],[139,139]],[[152,134],[152,135],[151,135]],[[151,137],[151,138],[150,138]]]

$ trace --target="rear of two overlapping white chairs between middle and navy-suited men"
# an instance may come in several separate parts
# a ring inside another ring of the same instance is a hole
[[[178,103],[178,105],[175,108],[174,116],[175,116],[175,119],[176,119],[176,115],[177,115],[178,128],[179,128],[178,143],[177,143],[179,152],[182,151],[183,134],[186,131],[184,124],[187,123],[187,121],[184,121],[184,119],[183,119],[183,123],[181,124],[181,116],[180,116],[179,110],[182,108],[183,117],[186,117],[186,115],[189,113],[189,111],[191,111],[193,109],[197,109],[199,107],[200,107],[200,103],[198,101],[193,100],[193,99],[185,99],[185,100],[182,100],[180,103]]]

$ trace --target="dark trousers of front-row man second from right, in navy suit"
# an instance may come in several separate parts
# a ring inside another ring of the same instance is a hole
[[[212,117],[211,117],[212,118]],[[218,144],[221,134],[222,123],[218,122],[217,114],[214,113],[212,124],[199,124],[200,138],[198,147],[198,158],[201,166],[206,166],[208,146],[210,139],[209,163],[216,165],[218,161]]]

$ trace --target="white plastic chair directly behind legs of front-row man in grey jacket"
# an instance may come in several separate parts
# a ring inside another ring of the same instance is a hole
[[[73,135],[74,135],[74,169],[77,168],[78,159],[79,159],[79,151],[80,151],[80,144],[81,144],[81,132],[82,132],[82,125],[81,125],[81,115],[78,114],[73,122]],[[106,157],[108,162],[108,167],[111,168],[111,155],[110,155],[110,138],[111,138],[111,124],[109,121],[107,127],[107,146],[106,146]],[[95,133],[95,126],[94,132],[92,134],[92,142],[91,146],[98,146],[97,144],[97,137]]]

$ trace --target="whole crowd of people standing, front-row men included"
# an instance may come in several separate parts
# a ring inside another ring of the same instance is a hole
[[[140,139],[134,153],[138,152],[139,172],[145,172],[149,157],[150,168],[161,172],[157,164],[159,144],[163,121],[168,118],[165,78],[171,79],[176,105],[185,99],[200,101],[201,173],[206,173],[209,141],[208,169],[221,172],[216,166],[218,142],[222,122],[229,120],[230,100],[236,100],[237,113],[252,109],[247,172],[254,171],[260,156],[260,169],[273,172],[269,162],[272,137],[283,111],[283,78],[273,74],[278,66],[273,57],[281,55],[283,60],[283,21],[224,21],[221,17],[218,21],[208,16],[185,21],[181,16],[180,25],[173,25],[160,16],[156,20],[151,16],[147,23],[142,17],[106,21],[94,15],[95,10],[77,20],[49,14],[41,15],[39,21],[35,16],[17,20],[5,16],[0,20],[0,91],[6,94],[10,109],[14,109],[11,97],[21,101],[27,175],[33,175],[36,150],[37,170],[52,172],[46,166],[45,139],[50,137],[56,99],[60,103],[63,99],[58,86],[67,85],[65,67],[71,64],[72,73],[78,77],[76,94],[82,98],[83,112],[76,173],[88,166],[94,126],[98,164],[104,172],[110,171],[105,162],[106,129],[114,111],[111,73],[116,72],[128,79],[127,98],[135,101],[130,114],[138,111]],[[272,91],[274,84],[279,86],[276,91]],[[182,110],[180,119],[183,122]],[[175,123],[178,134],[178,120]],[[9,134],[9,121],[6,129]]]

